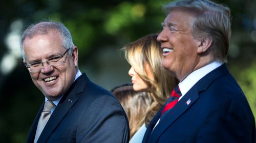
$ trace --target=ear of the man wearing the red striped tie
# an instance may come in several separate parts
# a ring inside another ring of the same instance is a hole
[[[204,53],[207,51],[212,44],[212,38],[211,37],[205,37],[202,40],[198,42],[198,47],[197,47],[197,53]]]

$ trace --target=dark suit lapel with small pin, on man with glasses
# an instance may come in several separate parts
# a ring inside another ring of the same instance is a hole
[[[54,129],[58,126],[61,120],[66,116],[70,108],[76,103],[79,99],[77,94],[81,93],[84,85],[89,79],[85,74],[82,74],[70,87],[65,95],[61,98],[60,102],[56,106],[54,112],[52,113],[49,121],[47,122],[44,130],[38,142],[46,142],[49,136],[52,134]]]

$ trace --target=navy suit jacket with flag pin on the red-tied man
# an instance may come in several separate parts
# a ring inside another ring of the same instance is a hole
[[[255,121],[249,104],[226,65],[199,80],[142,142],[255,143]]]

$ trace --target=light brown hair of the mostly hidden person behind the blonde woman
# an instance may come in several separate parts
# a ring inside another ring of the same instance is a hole
[[[119,85],[113,88],[111,92],[116,96],[127,115],[131,138],[142,125],[138,121],[144,120],[141,115],[143,115],[147,107],[151,105],[151,95],[147,92],[134,91],[132,84]]]

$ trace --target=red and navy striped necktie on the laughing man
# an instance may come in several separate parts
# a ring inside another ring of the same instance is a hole
[[[175,106],[175,104],[179,101],[180,96],[181,96],[181,92],[178,85],[177,87],[175,87],[172,94],[170,94],[169,98],[167,99],[167,102],[161,112],[161,117],[164,114],[166,114],[166,111],[168,111],[169,109],[172,109]]]

